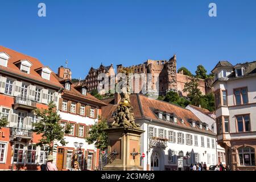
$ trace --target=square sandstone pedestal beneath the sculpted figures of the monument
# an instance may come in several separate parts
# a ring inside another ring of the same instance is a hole
[[[112,128],[108,133],[108,163],[103,170],[110,171],[142,171],[141,134],[143,130],[131,128]],[[138,153],[138,155],[131,154]]]

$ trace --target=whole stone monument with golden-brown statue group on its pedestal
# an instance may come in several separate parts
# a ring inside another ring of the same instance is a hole
[[[131,70],[123,68],[122,73],[128,76]],[[104,170],[143,170],[140,166],[140,157],[141,134],[144,131],[135,123],[129,97],[130,86],[126,86],[127,92],[121,93],[114,122],[105,130],[108,133],[108,161]]]

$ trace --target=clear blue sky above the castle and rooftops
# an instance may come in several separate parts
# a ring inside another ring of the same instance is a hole
[[[38,3],[47,16],[39,18]],[[208,16],[210,2],[217,17]],[[90,67],[177,55],[177,68],[256,60],[256,1],[1,1],[0,45],[84,78]],[[116,67],[115,67],[116,68]]]

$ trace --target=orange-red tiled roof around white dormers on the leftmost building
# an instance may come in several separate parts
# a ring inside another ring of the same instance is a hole
[[[0,66],[0,69],[10,72],[10,73],[18,74],[22,77],[32,78],[34,80],[38,80],[38,81],[44,82],[49,85],[63,88],[63,86],[59,83],[59,81],[54,76],[55,73],[52,72],[51,76],[50,76],[50,80],[46,80],[46,79],[42,78],[42,76],[40,76],[38,72],[35,71],[38,68],[44,67],[44,65],[38,59],[31,57],[31,56],[24,55],[23,53],[16,52],[12,49],[9,49],[9,48],[3,47],[3,46],[0,46],[0,52],[5,52],[10,56],[10,59],[8,60],[7,67]],[[16,65],[14,63],[19,60],[28,60],[32,63],[29,74],[20,71],[20,69],[18,67],[16,67]]]

